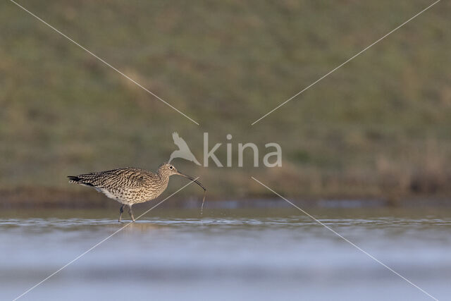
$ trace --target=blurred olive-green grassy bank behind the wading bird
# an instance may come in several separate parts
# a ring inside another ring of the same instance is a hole
[[[431,3],[20,1],[198,126],[2,1],[0,189],[80,191],[66,175],[155,170],[178,131],[201,161],[203,132],[223,162],[229,133],[234,156],[238,142],[281,145],[281,168],[176,159],[211,197],[273,197],[250,176],[287,197],[449,197],[449,1],[251,125]]]

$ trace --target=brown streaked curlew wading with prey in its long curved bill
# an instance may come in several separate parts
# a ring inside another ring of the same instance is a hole
[[[157,173],[146,171],[141,168],[118,168],[111,171],[100,171],[98,173],[83,173],[78,176],[68,176],[69,183],[91,186],[111,199],[120,202],[119,222],[121,222],[125,205],[128,205],[128,214],[132,221],[132,205],[156,199],[166,187],[169,177],[173,175],[189,178],[204,189],[205,200],[206,188],[196,178],[180,173],[172,164],[163,163],[159,166]]]

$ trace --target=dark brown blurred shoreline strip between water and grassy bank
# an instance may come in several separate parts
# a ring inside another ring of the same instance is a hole
[[[287,198],[302,206],[323,208],[451,207],[451,196],[448,195],[406,195],[403,197],[393,197],[390,194],[379,196],[299,195]],[[290,204],[280,202],[281,200],[270,195],[245,195],[228,198],[207,195],[206,203],[214,209],[290,207]],[[95,190],[65,190],[42,187],[0,189],[1,209],[116,208],[117,202],[112,201],[112,199]],[[170,202],[165,202],[161,206],[190,209],[199,207],[201,203],[202,197],[173,196]],[[148,204],[148,202],[142,204]],[[142,204],[135,206],[138,208]]]

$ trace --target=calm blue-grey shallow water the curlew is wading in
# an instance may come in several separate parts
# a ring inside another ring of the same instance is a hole
[[[307,211],[434,297],[450,299],[449,208]],[[0,300],[125,226],[116,215],[2,211]],[[204,216],[154,209],[21,300],[122,298],[430,300],[295,208],[206,209]]]

